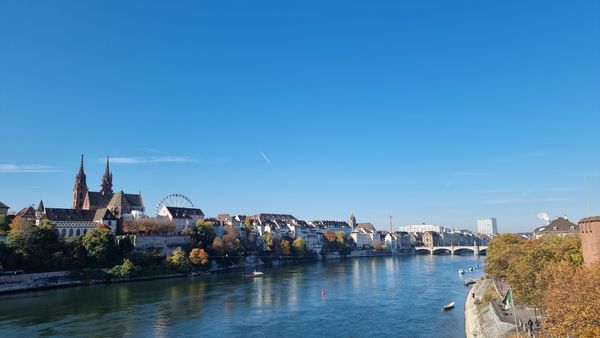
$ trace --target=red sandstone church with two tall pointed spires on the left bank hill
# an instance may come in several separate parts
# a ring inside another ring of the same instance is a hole
[[[83,155],[81,155],[81,164],[73,188],[73,209],[96,210],[108,208],[119,219],[133,218],[134,211],[143,213],[144,201],[142,200],[142,194],[126,194],[123,191],[113,193],[112,178],[107,157],[100,191],[89,191],[83,168]]]

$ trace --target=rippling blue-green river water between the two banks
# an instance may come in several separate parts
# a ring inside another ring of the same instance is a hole
[[[0,337],[464,337],[457,271],[482,263],[362,258],[269,268],[264,278],[230,272],[8,295]],[[450,301],[456,308],[442,312]]]

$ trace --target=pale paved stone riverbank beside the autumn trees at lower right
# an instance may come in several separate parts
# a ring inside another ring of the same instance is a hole
[[[514,324],[502,319],[491,301],[484,302],[487,292],[496,293],[491,279],[481,279],[469,291],[465,300],[465,336],[467,338],[505,338],[515,330]]]

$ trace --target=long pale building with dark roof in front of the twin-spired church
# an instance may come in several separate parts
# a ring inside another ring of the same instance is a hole
[[[46,208],[40,201],[36,209],[36,224],[51,222],[61,237],[71,238],[83,236],[88,231],[103,224],[116,233],[118,218],[107,208],[96,210]]]

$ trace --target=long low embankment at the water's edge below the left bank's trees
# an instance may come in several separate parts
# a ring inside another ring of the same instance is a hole
[[[330,253],[324,257],[319,255],[314,258],[305,258],[305,259],[273,260],[273,261],[269,262],[268,264],[265,264],[264,262],[256,262],[253,260],[252,263],[246,263],[246,264],[241,264],[241,265],[231,265],[228,267],[213,267],[208,271],[208,273],[246,270],[246,269],[255,268],[257,266],[277,267],[277,266],[286,266],[286,265],[306,264],[306,263],[327,261],[327,260],[365,258],[365,257],[385,257],[385,256],[393,256],[393,254],[391,254],[391,253],[388,253],[388,254],[371,253],[367,250],[357,250],[357,251],[353,251],[348,256],[340,256],[337,253]],[[181,277],[188,277],[190,275],[197,277],[197,276],[202,276],[204,274],[204,273],[199,273],[199,274],[165,273],[165,274],[156,274],[156,275],[151,275],[151,276],[137,276],[137,277],[128,277],[128,278],[114,277],[114,278],[102,278],[102,279],[93,279],[93,278],[92,279],[81,279],[81,278],[74,277],[74,275],[76,273],[77,272],[75,272],[75,271],[55,271],[55,272],[0,276],[0,295],[47,290],[47,289],[86,286],[86,285],[111,284],[111,283],[131,283],[131,282],[141,282],[141,281],[149,281],[149,280],[157,280],[157,279],[181,278]]]

